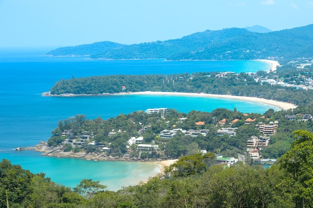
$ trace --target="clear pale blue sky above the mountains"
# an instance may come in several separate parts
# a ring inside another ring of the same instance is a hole
[[[123,44],[313,23],[313,0],[0,0],[0,48]]]

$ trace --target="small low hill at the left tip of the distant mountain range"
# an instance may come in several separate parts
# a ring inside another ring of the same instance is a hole
[[[113,48],[123,47],[125,45],[110,41],[95,42],[77,46],[61,47],[49,51],[46,55],[52,56],[90,56],[92,54],[101,54]]]

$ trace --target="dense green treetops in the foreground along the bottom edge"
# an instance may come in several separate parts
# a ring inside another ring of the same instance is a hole
[[[117,192],[99,191],[92,180],[83,180],[73,192],[2,160],[0,208],[6,207],[5,190],[10,208],[309,208],[313,134],[293,133],[291,150],[270,168],[214,166],[211,154],[197,154],[181,157],[164,175]],[[88,190],[91,195],[85,195]]]

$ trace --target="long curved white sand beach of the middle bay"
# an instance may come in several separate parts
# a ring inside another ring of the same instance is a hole
[[[116,95],[177,95],[177,96],[197,96],[197,97],[217,97],[226,99],[237,99],[246,100],[251,102],[265,103],[271,106],[276,106],[283,110],[294,109],[297,106],[291,103],[280,102],[276,100],[268,100],[256,97],[244,97],[244,96],[234,96],[234,95],[216,95],[216,94],[205,94],[205,93],[184,93],[184,92],[130,92],[130,93],[118,93]]]

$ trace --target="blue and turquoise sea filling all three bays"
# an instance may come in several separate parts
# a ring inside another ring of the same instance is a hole
[[[129,162],[95,162],[40,156],[16,147],[47,141],[61,119],[85,114],[93,119],[114,117],[147,108],[174,108],[180,112],[216,108],[263,113],[274,106],[240,100],[165,95],[109,95],[42,97],[60,79],[109,74],[173,74],[200,71],[256,72],[268,70],[261,61],[88,60],[85,57],[48,57],[47,51],[0,50],[0,159],[52,181],[75,187],[82,179],[100,180],[108,190],[137,184],[154,176],[159,166]]]

